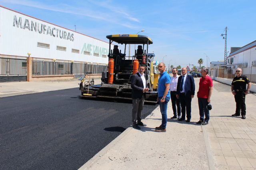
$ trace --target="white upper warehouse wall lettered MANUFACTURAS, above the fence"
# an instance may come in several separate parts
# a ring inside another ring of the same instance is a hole
[[[108,63],[108,42],[0,6],[0,54]]]

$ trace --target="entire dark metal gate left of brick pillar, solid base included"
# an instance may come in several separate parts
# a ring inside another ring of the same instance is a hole
[[[0,82],[27,80],[27,60],[0,58]]]

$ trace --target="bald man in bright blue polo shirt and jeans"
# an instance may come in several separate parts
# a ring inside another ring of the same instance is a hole
[[[167,124],[167,105],[170,101],[170,82],[171,78],[168,72],[165,71],[165,64],[159,63],[158,70],[160,72],[160,77],[158,79],[158,101],[160,106],[160,111],[162,114],[162,124],[156,127],[156,132],[166,132]]]

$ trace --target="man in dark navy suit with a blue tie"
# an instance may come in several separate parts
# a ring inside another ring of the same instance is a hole
[[[191,101],[195,95],[195,82],[192,75],[187,74],[187,69],[185,67],[181,70],[182,76],[178,78],[177,84],[177,94],[176,97],[180,99],[181,113],[182,116],[179,121],[185,120],[185,115],[187,112],[187,121],[190,122],[191,119]]]

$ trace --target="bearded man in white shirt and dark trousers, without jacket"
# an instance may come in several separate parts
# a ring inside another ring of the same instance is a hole
[[[171,83],[170,83],[170,95],[172,100],[172,111],[174,116],[171,117],[171,119],[180,119],[181,118],[180,117],[181,115],[180,100],[176,97],[178,77],[179,77],[177,68],[172,68],[172,74],[173,76],[171,77]]]

